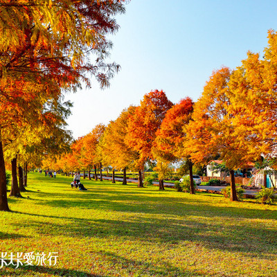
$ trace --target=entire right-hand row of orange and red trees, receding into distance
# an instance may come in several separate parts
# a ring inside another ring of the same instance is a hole
[[[231,200],[236,201],[234,170],[275,152],[276,105],[277,34],[269,30],[262,59],[249,52],[237,69],[214,71],[195,104],[185,98],[173,105],[163,91],[151,91],[139,107],[130,106],[107,127],[98,125],[78,139],[69,154],[75,162],[71,169],[96,164],[132,168],[139,170],[143,186],[143,165],[155,163],[163,189],[169,164],[179,161],[186,164],[190,193],[195,193],[193,165],[220,156],[231,174]]]

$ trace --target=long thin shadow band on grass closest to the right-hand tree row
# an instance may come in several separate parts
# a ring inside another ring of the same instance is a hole
[[[62,197],[62,195],[60,195]],[[66,199],[69,198],[70,199]],[[40,200],[40,204],[53,207],[82,207],[96,208],[107,211],[129,211],[135,213],[155,214],[155,215],[199,215],[202,213],[206,217],[233,217],[237,219],[262,219],[276,220],[277,211],[262,211],[256,208],[240,207],[219,207],[213,206],[208,199],[185,199],[175,197],[172,201],[170,197],[160,195],[137,195],[129,193],[108,193],[101,194],[97,191],[80,192],[78,198],[73,195],[65,196],[64,199]],[[260,205],[260,204],[256,204]]]

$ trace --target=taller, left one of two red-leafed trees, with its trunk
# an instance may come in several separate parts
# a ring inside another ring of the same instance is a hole
[[[153,160],[152,145],[156,139],[157,129],[166,115],[166,111],[172,107],[166,93],[162,90],[150,91],[145,94],[141,105],[136,107],[134,114],[129,118],[126,143],[129,147],[139,152],[139,185],[143,186],[141,170],[144,163]]]

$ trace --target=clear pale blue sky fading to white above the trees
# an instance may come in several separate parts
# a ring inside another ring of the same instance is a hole
[[[267,30],[277,30],[276,0],[132,0],[116,17],[111,60],[121,66],[111,87],[66,96],[74,102],[68,119],[73,136],[108,124],[145,93],[163,89],[172,102],[197,101],[215,69],[235,69],[247,51],[267,46]]]

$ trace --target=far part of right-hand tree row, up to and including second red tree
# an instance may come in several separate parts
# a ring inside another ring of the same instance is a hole
[[[126,184],[126,170],[138,170],[138,186],[143,186],[142,172],[145,163],[155,165],[159,173],[159,189],[163,190],[163,179],[169,171],[170,163],[186,163],[193,185],[193,161],[184,148],[188,125],[193,113],[193,100],[185,98],[173,105],[163,91],[145,94],[141,105],[123,110],[109,125],[97,125],[89,134],[80,137],[71,145],[71,152],[60,157],[57,162],[48,159],[44,168],[62,168],[65,172],[88,170],[111,166],[123,169],[123,184]]]

